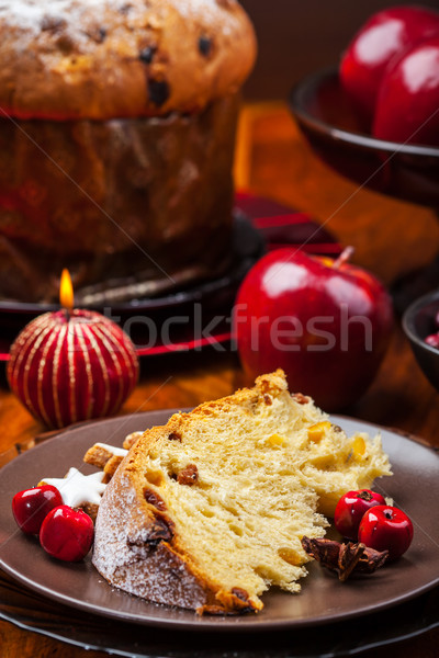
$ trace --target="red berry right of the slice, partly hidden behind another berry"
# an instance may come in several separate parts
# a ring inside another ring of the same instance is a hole
[[[378,504],[385,504],[385,500],[381,494],[370,489],[348,491],[341,496],[334,513],[334,523],[338,532],[344,537],[357,542],[358,529],[363,514]]]

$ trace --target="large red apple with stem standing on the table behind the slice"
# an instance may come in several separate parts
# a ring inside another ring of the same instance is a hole
[[[282,367],[290,388],[327,411],[368,388],[393,326],[383,285],[364,270],[293,248],[271,251],[244,280],[234,334],[248,376]]]

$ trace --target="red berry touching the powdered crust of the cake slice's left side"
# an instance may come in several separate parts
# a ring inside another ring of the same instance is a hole
[[[61,504],[44,519],[40,541],[53,557],[79,561],[90,551],[93,535],[93,522],[86,512]]]

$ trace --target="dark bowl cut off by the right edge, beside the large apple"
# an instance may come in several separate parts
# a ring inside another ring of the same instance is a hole
[[[424,374],[439,390],[439,350],[428,345],[424,340],[438,330],[435,321],[438,311],[439,291],[435,291],[424,295],[407,308],[403,316],[403,329]]]

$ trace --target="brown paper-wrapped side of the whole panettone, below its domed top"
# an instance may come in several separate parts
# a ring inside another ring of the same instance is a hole
[[[56,303],[63,268],[88,306],[222,275],[238,101],[185,116],[0,120],[0,297]]]

